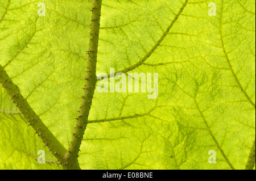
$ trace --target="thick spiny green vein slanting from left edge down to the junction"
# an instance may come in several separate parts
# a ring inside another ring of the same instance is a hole
[[[0,66],[0,82],[2,83],[2,87],[7,91],[7,94],[11,96],[13,103],[16,104],[16,107],[18,107],[24,118],[28,121],[28,126],[31,125],[34,128],[35,134],[38,134],[42,139],[45,144],[44,146],[47,146],[52,151],[59,162],[64,163],[64,156],[67,150],[60,144],[51,131],[49,131],[35,111],[32,110],[27,100],[20,94],[19,88],[11,81],[11,78],[2,66]]]

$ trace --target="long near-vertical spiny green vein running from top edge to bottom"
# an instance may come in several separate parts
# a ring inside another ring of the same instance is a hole
[[[93,7],[92,23],[90,26],[90,44],[88,50],[88,70],[85,78],[85,88],[84,94],[82,95],[82,103],[79,111],[79,116],[76,121],[76,127],[73,132],[71,145],[69,146],[68,153],[66,155],[68,164],[64,166],[65,169],[80,169],[77,157],[79,154],[82,137],[88,124],[90,106],[92,105],[94,89],[97,82],[96,62],[98,53],[98,37],[100,32],[102,0],[93,0],[92,3]]]

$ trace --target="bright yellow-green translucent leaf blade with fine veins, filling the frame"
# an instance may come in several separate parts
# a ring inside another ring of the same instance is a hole
[[[94,0],[1,0],[0,169],[68,169],[34,123],[81,169],[255,169],[255,1],[216,0],[216,16],[210,2],[103,0],[97,37]],[[158,73],[158,98],[95,89],[85,104],[96,58],[97,75]]]

